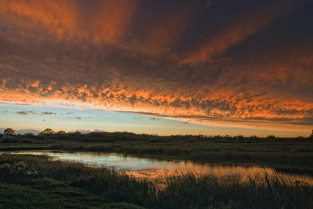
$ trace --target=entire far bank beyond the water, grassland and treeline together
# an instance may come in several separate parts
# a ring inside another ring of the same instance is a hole
[[[313,142],[310,138],[203,138],[157,137],[131,133],[61,134],[16,136],[0,140],[0,151],[63,150],[115,152],[159,159],[201,162],[255,163],[274,167],[313,169]],[[108,135],[108,136],[107,136]],[[109,138],[110,137],[110,138]]]

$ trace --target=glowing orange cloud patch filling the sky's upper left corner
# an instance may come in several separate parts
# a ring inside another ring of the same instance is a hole
[[[64,0],[3,0],[0,12],[26,17],[59,37],[119,42],[139,2],[102,0],[80,5],[78,1]]]

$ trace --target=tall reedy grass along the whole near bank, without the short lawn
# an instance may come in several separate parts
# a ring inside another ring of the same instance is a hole
[[[101,198],[147,208],[313,208],[312,184],[265,171],[244,182],[236,176],[184,173],[168,177],[167,186],[161,189],[116,168],[91,168],[82,162],[52,160],[48,156],[3,154],[0,175],[0,181],[49,178]]]

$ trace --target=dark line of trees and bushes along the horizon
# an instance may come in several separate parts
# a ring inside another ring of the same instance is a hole
[[[46,129],[47,130],[47,129]],[[46,131],[45,130],[45,131]],[[280,138],[273,135],[268,137],[250,136],[203,136],[199,135],[171,135],[171,136],[158,136],[154,134],[136,134],[132,132],[90,132],[82,134],[80,132],[66,133],[64,131],[54,132],[49,129],[49,132],[42,131],[38,135],[32,133],[26,134],[11,134],[10,137],[1,137],[0,142],[3,143],[32,143],[34,141],[52,140],[52,141],[78,141],[78,142],[122,142],[122,141],[142,141],[150,143],[162,142],[196,142],[196,141],[212,141],[218,143],[258,143],[258,142],[313,142],[313,137],[291,137]]]

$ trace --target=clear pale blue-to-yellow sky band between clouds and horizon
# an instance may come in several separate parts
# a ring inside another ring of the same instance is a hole
[[[43,112],[46,114],[43,114]],[[280,137],[307,135],[307,132],[295,130],[271,130],[270,132],[264,132],[263,129],[222,127],[215,124],[214,126],[200,125],[192,122],[186,123],[180,119],[155,117],[131,112],[74,108],[65,105],[56,107],[55,105],[33,106],[0,103],[0,118],[1,128],[12,127],[14,130],[34,128],[42,131],[46,128],[51,128],[54,131],[75,131],[77,129],[91,129],[91,131],[94,131],[98,129],[107,132],[158,133],[165,136],[172,134],[221,135],[222,133],[231,136],[268,136],[269,133],[276,136],[279,135]]]

